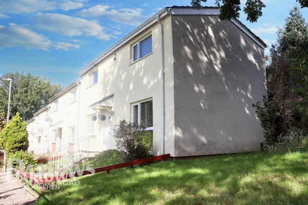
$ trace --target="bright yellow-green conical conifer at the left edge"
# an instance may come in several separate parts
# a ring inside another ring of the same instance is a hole
[[[0,132],[0,147],[7,153],[28,149],[27,123],[18,112]]]

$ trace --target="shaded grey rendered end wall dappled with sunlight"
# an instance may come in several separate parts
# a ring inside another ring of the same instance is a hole
[[[264,50],[218,16],[174,15],[172,37],[175,155],[260,150]]]

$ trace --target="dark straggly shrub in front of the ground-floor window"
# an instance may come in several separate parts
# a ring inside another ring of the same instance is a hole
[[[151,153],[149,132],[144,125],[120,120],[114,131],[117,147],[125,156],[125,161],[149,157]]]

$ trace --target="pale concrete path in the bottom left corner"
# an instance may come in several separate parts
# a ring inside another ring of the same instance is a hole
[[[0,204],[30,205],[35,199],[9,172],[0,172]]]

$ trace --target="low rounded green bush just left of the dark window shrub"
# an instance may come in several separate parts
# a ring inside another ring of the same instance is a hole
[[[99,156],[91,160],[95,167],[114,165],[124,162],[125,155],[119,150],[105,150]]]

